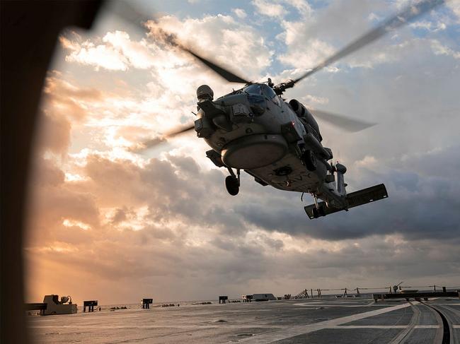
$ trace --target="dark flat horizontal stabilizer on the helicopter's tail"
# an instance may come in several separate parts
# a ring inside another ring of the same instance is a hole
[[[347,194],[347,209],[362,206],[366,203],[379,201],[380,199],[384,199],[387,197],[388,193],[386,192],[384,184],[371,186],[366,189],[358,190],[350,194]],[[304,207],[306,215],[309,215],[309,218],[318,218],[319,216],[326,216],[332,213],[337,213],[341,210],[345,210],[345,208],[328,208],[326,206],[326,202],[319,202],[318,208],[319,211],[316,210],[316,206],[314,204]]]

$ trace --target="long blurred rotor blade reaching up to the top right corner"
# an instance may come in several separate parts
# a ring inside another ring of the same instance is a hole
[[[389,30],[393,30],[406,25],[410,20],[414,20],[415,18],[422,16],[422,14],[439,5],[444,4],[444,2],[444,0],[425,0],[420,1],[418,4],[407,6],[403,9],[403,11],[385,20],[383,23],[381,23],[381,25],[362,35],[354,42],[351,42],[349,45],[339,50],[325,61],[321,62],[321,64],[318,64],[318,66],[314,67],[314,69],[311,69],[304,73],[303,76],[294,79],[294,83],[298,83],[307,76],[311,76],[311,74],[316,73],[317,71],[323,69],[326,66],[329,66],[330,64],[333,64],[334,62],[342,59],[343,57],[346,57],[352,52],[356,52],[358,49],[369,45],[369,43],[374,42],[375,40],[378,40],[380,37],[384,36],[386,32],[389,32]]]

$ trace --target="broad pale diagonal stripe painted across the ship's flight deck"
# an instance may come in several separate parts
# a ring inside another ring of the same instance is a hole
[[[410,307],[410,303],[398,304],[396,306],[386,307],[384,309],[376,309],[370,312],[353,314],[350,316],[343,316],[341,318],[331,319],[327,321],[320,321],[315,324],[309,324],[309,325],[303,325],[303,326],[292,326],[291,328],[286,328],[283,331],[272,331],[269,333],[262,333],[258,336],[254,336],[251,338],[240,339],[239,341],[245,342],[245,343],[272,343],[277,340],[292,338],[292,337],[299,336],[302,334],[311,333],[311,332],[323,330],[329,327],[338,326],[340,324],[346,324],[351,321],[369,318],[369,316],[375,316],[379,314],[393,312],[393,311],[396,311],[397,309],[402,309],[406,307]]]

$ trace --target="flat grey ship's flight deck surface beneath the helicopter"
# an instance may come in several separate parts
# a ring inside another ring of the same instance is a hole
[[[460,300],[294,299],[28,316],[35,343],[460,343]],[[445,336],[445,335],[444,335]]]

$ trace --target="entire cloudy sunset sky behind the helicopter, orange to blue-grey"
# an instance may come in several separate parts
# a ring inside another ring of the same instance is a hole
[[[460,285],[460,1],[450,1],[306,78],[284,97],[377,123],[320,122],[347,190],[389,198],[309,220],[311,197],[242,174],[238,196],[195,132],[136,152],[195,119],[196,88],[227,83],[156,40],[158,25],[253,81],[296,78],[401,11],[401,0],[110,3],[67,28],[47,73],[30,182],[26,299],[100,304],[214,299],[305,288]],[[118,7],[120,8],[120,7]]]

